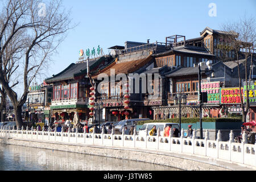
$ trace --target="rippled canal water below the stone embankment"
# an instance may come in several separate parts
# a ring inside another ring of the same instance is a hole
[[[130,160],[106,158],[0,144],[0,171],[180,171],[176,168]]]

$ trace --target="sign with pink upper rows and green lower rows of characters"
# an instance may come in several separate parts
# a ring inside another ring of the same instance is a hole
[[[201,83],[201,92],[207,92],[208,102],[205,104],[220,104],[220,81]]]

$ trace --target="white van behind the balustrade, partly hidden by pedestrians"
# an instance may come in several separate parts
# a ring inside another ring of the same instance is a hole
[[[144,123],[144,125],[141,127],[141,129],[139,129],[139,135],[141,135],[141,136],[146,135],[146,128],[147,128],[147,134],[149,135],[150,130],[152,130],[152,127],[156,126],[156,131],[159,128],[160,129],[160,136],[163,137],[164,128],[167,125],[172,125],[172,129],[176,128],[176,129],[179,129],[179,131],[180,131],[179,124],[177,124],[177,123]]]

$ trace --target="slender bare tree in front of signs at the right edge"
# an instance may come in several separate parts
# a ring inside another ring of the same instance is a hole
[[[249,95],[251,86],[251,76],[255,59],[255,41],[256,41],[256,24],[255,18],[240,18],[234,23],[225,23],[222,30],[230,34],[221,35],[222,39],[228,40],[232,48],[232,56],[228,56],[228,52],[222,51],[221,59],[224,61],[234,61],[237,64],[240,93],[246,94],[243,99],[243,94],[240,94],[242,119],[246,122],[246,115],[250,109]],[[245,80],[245,88],[243,89],[242,79]],[[245,93],[246,92],[246,93]]]

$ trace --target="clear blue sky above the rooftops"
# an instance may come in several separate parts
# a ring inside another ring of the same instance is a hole
[[[210,17],[208,5],[215,3],[217,16]],[[245,14],[256,17],[256,1],[68,1],[64,6],[72,9],[71,18],[79,26],[69,31],[67,38],[53,57],[49,76],[67,68],[79,59],[80,49],[124,46],[126,41],[165,42],[166,36],[185,35],[197,38],[205,27],[220,29],[222,23],[234,22]]]

